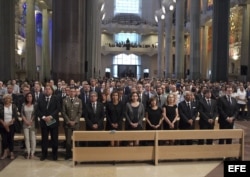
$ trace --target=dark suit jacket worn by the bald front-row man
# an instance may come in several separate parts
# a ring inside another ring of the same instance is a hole
[[[191,102],[191,110],[188,108],[186,101],[182,101],[178,105],[178,111],[180,116],[179,128],[180,129],[194,129],[195,119],[198,114],[197,105]],[[193,120],[193,125],[188,123],[188,120]]]

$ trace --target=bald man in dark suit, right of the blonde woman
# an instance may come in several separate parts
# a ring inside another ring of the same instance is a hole
[[[190,91],[184,92],[184,98],[178,105],[178,111],[180,116],[179,129],[180,130],[192,130],[194,129],[195,119],[198,114],[196,104],[191,101],[192,93]],[[181,145],[191,145],[192,140],[181,140]]]

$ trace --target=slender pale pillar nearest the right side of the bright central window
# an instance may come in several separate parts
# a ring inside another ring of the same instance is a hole
[[[163,51],[163,27],[164,21],[158,17],[158,57],[157,57],[157,77],[162,76],[162,51]]]

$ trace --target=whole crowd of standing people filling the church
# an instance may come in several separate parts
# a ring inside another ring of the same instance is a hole
[[[220,129],[233,129],[235,120],[250,120],[250,83],[168,80],[157,78],[94,79],[66,83],[59,79],[47,83],[16,80],[0,81],[0,132],[3,152],[0,159],[14,155],[15,132],[23,132],[26,156],[36,150],[36,130],[41,130],[40,160],[48,158],[49,136],[52,159],[58,158],[59,113],[64,119],[65,159],[72,157],[74,130],[191,130],[214,129],[218,117]],[[199,127],[195,120],[199,116]],[[18,120],[21,117],[22,121]],[[80,127],[80,117],[86,127]],[[105,123],[106,118],[106,123]],[[143,119],[146,119],[144,126]],[[128,146],[151,142],[132,141]],[[192,145],[190,140],[167,140],[165,145]],[[197,140],[202,145],[213,140]],[[232,139],[220,139],[220,144]],[[98,146],[98,142],[87,144]],[[109,142],[120,146],[121,142]]]

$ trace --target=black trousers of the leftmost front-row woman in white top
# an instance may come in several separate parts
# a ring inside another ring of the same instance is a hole
[[[14,150],[14,134],[15,128],[14,125],[9,126],[10,131],[7,132],[5,128],[1,127],[1,136],[2,136],[2,148],[3,150],[9,149],[10,152]]]

